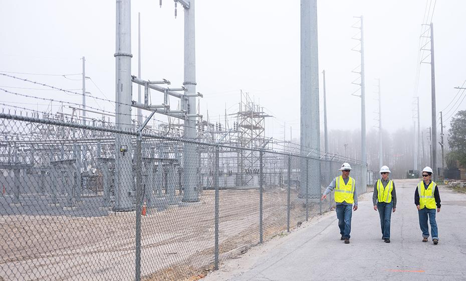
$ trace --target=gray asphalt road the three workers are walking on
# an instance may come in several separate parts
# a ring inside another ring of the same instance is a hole
[[[220,264],[203,280],[466,280],[466,194],[439,187],[438,245],[421,242],[414,190],[417,180],[395,180],[398,204],[391,243],[381,239],[372,192],[359,198],[351,243],[340,241],[329,211],[284,237]]]

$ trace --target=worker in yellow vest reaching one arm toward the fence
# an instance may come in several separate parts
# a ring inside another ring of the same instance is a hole
[[[337,212],[338,226],[340,227],[340,240],[344,240],[345,244],[349,243],[351,237],[351,217],[353,211],[358,209],[356,182],[349,176],[351,170],[353,169],[351,169],[348,163],[343,163],[339,169],[341,176],[333,179],[320,199],[321,201],[324,200],[327,198],[327,194],[335,190],[335,211]]]

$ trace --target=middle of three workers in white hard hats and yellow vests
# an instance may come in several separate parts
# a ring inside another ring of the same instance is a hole
[[[390,243],[391,213],[396,210],[395,183],[388,178],[389,174],[390,169],[387,166],[380,168],[382,179],[375,182],[374,194],[372,195],[374,210],[379,211],[382,239],[385,243]]]

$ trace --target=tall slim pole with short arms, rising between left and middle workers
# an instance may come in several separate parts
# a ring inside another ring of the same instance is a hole
[[[364,22],[361,16],[361,161],[367,165],[366,155],[366,94],[364,82]],[[365,190],[367,185],[367,166],[362,169],[362,184]]]

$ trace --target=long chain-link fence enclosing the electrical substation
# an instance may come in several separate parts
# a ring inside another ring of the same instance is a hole
[[[5,113],[0,132],[0,280],[218,268],[329,210],[320,196],[345,160]]]

